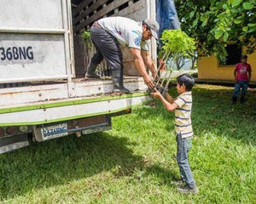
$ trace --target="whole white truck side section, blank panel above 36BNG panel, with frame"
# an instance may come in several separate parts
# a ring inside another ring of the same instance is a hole
[[[71,82],[69,1],[2,0],[0,14],[0,83]]]

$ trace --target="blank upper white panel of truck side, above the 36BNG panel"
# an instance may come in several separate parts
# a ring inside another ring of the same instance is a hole
[[[61,1],[1,0],[0,25],[6,28],[61,29]]]

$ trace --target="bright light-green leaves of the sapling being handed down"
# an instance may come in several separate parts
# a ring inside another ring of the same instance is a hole
[[[180,29],[165,30],[160,38],[162,47],[159,57],[163,60],[169,59],[177,62],[179,59],[191,58],[195,54],[195,41]]]

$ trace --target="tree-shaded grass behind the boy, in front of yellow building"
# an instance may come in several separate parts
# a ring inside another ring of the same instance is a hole
[[[170,88],[176,97],[176,88]],[[211,133],[217,137],[237,139],[244,144],[256,144],[256,89],[247,91],[247,102],[231,105],[233,88],[204,86],[193,89],[192,125],[195,136]],[[155,105],[154,105],[155,104]],[[137,112],[139,119],[162,117],[161,128],[174,134],[174,112],[167,112],[160,101],[144,106]]]

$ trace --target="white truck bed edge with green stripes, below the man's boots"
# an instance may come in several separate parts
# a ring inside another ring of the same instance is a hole
[[[125,77],[124,83],[131,94],[113,94],[110,79],[80,78],[66,83],[3,88],[0,125],[38,125],[110,114],[152,99],[146,93],[143,77]]]

